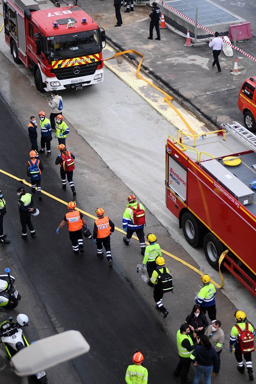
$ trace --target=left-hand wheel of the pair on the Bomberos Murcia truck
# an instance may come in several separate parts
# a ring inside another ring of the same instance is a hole
[[[202,245],[204,227],[192,213],[183,213],[181,218],[181,226],[188,244],[193,247]]]

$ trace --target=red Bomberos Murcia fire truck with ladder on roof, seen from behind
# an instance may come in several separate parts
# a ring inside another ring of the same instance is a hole
[[[216,270],[227,250],[221,267],[256,296],[256,136],[235,121],[202,135],[178,131],[165,162],[166,206],[187,242],[202,245]]]

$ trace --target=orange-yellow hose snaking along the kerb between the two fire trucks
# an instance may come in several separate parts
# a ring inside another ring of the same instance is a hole
[[[164,90],[162,90],[161,88],[159,88],[158,86],[154,85],[151,81],[147,80],[146,78],[142,77],[139,72],[140,72],[140,67],[141,67],[141,64],[142,64],[142,61],[144,59],[144,55],[142,53],[139,53],[137,50],[134,50],[134,49],[128,49],[128,50],[123,50],[122,52],[117,52],[115,54],[113,54],[111,57],[107,57],[107,58],[104,58],[104,61],[107,61],[107,60],[111,60],[112,58],[114,57],[117,57],[117,56],[120,56],[122,54],[125,54],[125,53],[135,53],[137,54],[138,56],[141,57],[139,63],[138,63],[138,67],[137,67],[137,70],[136,70],[136,76],[138,78],[140,78],[140,80],[143,80],[145,81],[147,84],[151,85],[153,88],[157,89],[159,92],[161,92],[162,94],[164,94],[164,101],[167,102],[167,104],[169,104],[169,106],[171,106],[172,109],[174,109],[174,111],[177,113],[177,115],[181,118],[181,120],[183,121],[183,123],[186,125],[186,127],[188,128],[188,130],[192,133],[192,134],[196,134],[195,131],[190,127],[190,125],[188,124],[188,122],[184,119],[184,117],[182,116],[182,114],[177,110],[177,108],[175,108],[174,105],[172,105],[172,103],[170,102],[171,100],[173,100],[173,97],[170,96],[168,93],[166,93]]]

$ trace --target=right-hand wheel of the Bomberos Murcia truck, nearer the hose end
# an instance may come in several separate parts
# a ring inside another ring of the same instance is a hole
[[[218,259],[223,252],[222,242],[214,236],[214,234],[208,232],[203,237],[203,250],[208,263],[218,270]]]

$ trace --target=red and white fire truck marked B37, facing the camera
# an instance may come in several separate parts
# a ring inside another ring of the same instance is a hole
[[[41,92],[103,81],[105,32],[74,4],[70,0],[56,10],[39,9],[34,0],[3,0],[5,41]]]

